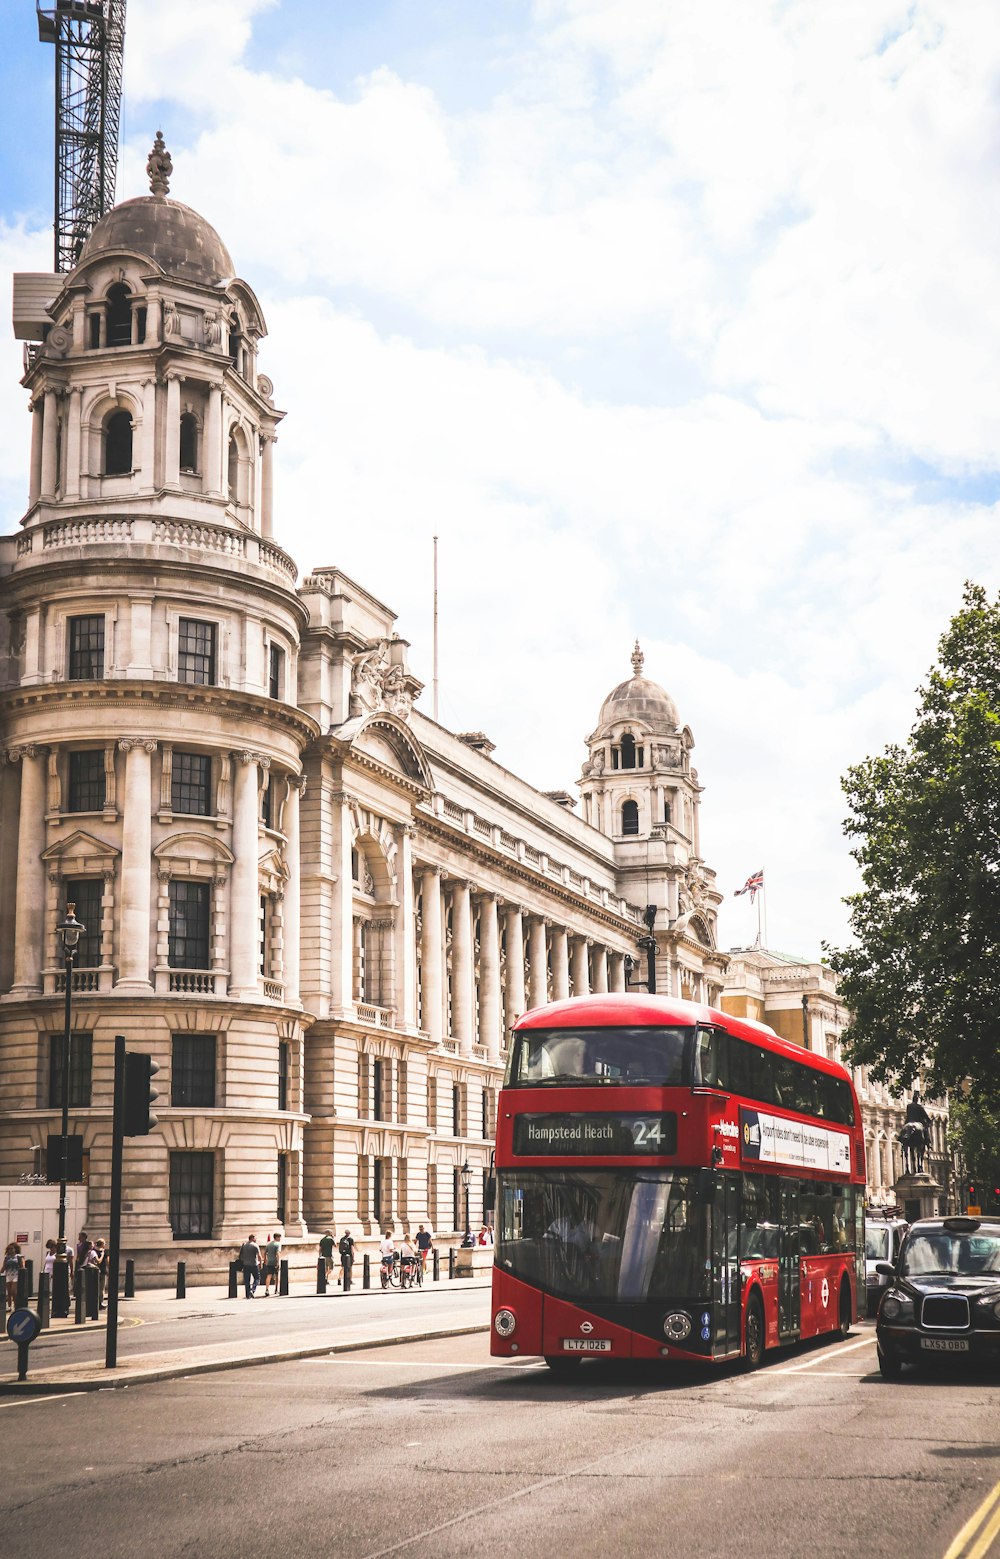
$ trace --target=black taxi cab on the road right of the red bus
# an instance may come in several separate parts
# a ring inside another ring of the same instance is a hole
[[[911,1224],[878,1303],[878,1369],[978,1359],[1000,1364],[1000,1219],[922,1218]]]

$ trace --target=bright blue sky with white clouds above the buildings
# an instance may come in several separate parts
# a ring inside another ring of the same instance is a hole
[[[0,9],[6,278],[53,50]],[[388,602],[429,712],[437,533],[441,720],[543,789],[638,638],[725,945],[758,867],[772,946],[844,939],[839,776],[1000,583],[998,94],[992,0],[128,0],[119,196],[162,125],[262,299],[278,539]]]

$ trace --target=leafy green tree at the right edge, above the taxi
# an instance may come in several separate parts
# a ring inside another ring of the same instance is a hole
[[[842,780],[863,889],[830,953],[855,1065],[1000,1105],[1000,596],[966,585],[905,747]]]

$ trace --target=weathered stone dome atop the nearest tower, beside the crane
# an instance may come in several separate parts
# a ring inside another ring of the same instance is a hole
[[[94,224],[76,263],[114,249],[148,254],[167,276],[209,287],[236,276],[229,251],[212,224],[165,195],[139,195],[114,206]]]

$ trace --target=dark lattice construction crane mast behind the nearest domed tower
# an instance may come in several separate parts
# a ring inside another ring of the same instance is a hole
[[[37,36],[56,45],[56,271],[72,271],[114,206],[125,0],[36,0]]]

